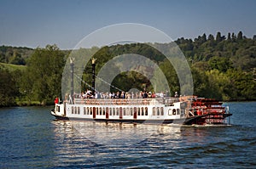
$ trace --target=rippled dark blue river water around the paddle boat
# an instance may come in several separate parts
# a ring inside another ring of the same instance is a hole
[[[229,127],[55,121],[52,107],[0,109],[0,168],[255,168],[256,102]]]

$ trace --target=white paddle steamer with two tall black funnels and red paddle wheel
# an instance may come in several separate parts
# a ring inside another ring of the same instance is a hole
[[[71,63],[73,73],[73,63]],[[92,64],[95,87],[95,63]],[[73,75],[72,75],[73,78]],[[72,80],[73,82],[73,80]],[[183,125],[225,125],[230,123],[229,108],[215,99],[196,96],[150,99],[81,99],[72,92],[62,103],[56,102],[51,114],[59,120],[128,123],[179,123]],[[93,91],[94,93],[94,91]]]

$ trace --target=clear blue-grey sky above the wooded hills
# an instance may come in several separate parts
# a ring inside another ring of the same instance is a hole
[[[256,35],[254,0],[0,0],[0,46],[74,48],[102,27],[153,26],[173,40]]]

